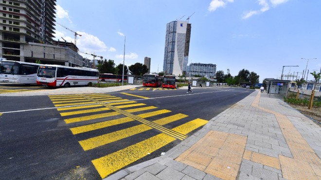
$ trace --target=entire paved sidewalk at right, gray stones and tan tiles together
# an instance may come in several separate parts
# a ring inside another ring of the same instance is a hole
[[[321,180],[321,127],[254,91],[158,158],[104,180]]]

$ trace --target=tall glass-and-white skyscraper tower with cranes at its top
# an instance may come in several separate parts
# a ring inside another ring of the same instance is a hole
[[[166,25],[163,71],[166,74],[186,73],[192,25],[176,20]]]

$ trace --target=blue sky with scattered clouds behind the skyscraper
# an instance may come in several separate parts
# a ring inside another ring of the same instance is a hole
[[[320,7],[321,0],[57,0],[55,20],[82,35],[81,52],[118,65],[126,37],[125,65],[147,56],[151,72],[161,72],[166,24],[192,15],[189,63],[213,63],[232,76],[246,69],[262,82],[280,79],[283,66],[284,74],[300,77],[305,68],[320,72]],[[71,31],[55,29],[55,40],[74,41]]]

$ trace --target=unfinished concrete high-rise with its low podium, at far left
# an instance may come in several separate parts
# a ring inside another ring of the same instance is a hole
[[[77,48],[54,41],[56,0],[0,1],[0,57],[7,60],[82,66]],[[85,63],[86,64],[86,63]]]

